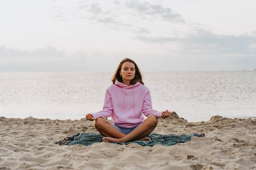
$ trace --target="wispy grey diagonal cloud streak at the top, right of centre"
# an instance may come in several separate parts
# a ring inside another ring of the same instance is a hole
[[[126,7],[135,10],[142,16],[158,16],[163,20],[184,22],[180,14],[174,13],[170,8],[164,8],[161,5],[153,5],[148,2],[140,3],[139,1],[132,0],[126,2]]]

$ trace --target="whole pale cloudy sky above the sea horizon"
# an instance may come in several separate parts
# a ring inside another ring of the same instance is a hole
[[[0,72],[256,68],[254,0],[0,0]]]

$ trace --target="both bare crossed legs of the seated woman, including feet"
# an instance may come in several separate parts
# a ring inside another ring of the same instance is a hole
[[[150,134],[156,127],[158,118],[154,115],[149,116],[142,124],[131,133],[125,135],[115,129],[109,121],[98,118],[94,122],[97,131],[102,134],[102,141],[105,142],[129,142],[134,140],[150,140],[146,135]]]

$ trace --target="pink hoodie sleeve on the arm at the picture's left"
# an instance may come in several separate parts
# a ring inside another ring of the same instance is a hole
[[[112,106],[112,100],[111,96],[108,90],[106,90],[105,94],[105,100],[104,100],[104,105],[102,111],[99,111],[97,113],[92,113],[94,119],[96,120],[99,117],[102,118],[108,118],[113,114],[113,106]]]

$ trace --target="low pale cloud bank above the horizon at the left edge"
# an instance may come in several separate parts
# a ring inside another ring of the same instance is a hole
[[[94,67],[81,51],[66,56],[52,46],[32,51],[0,46],[0,72],[90,71]]]

